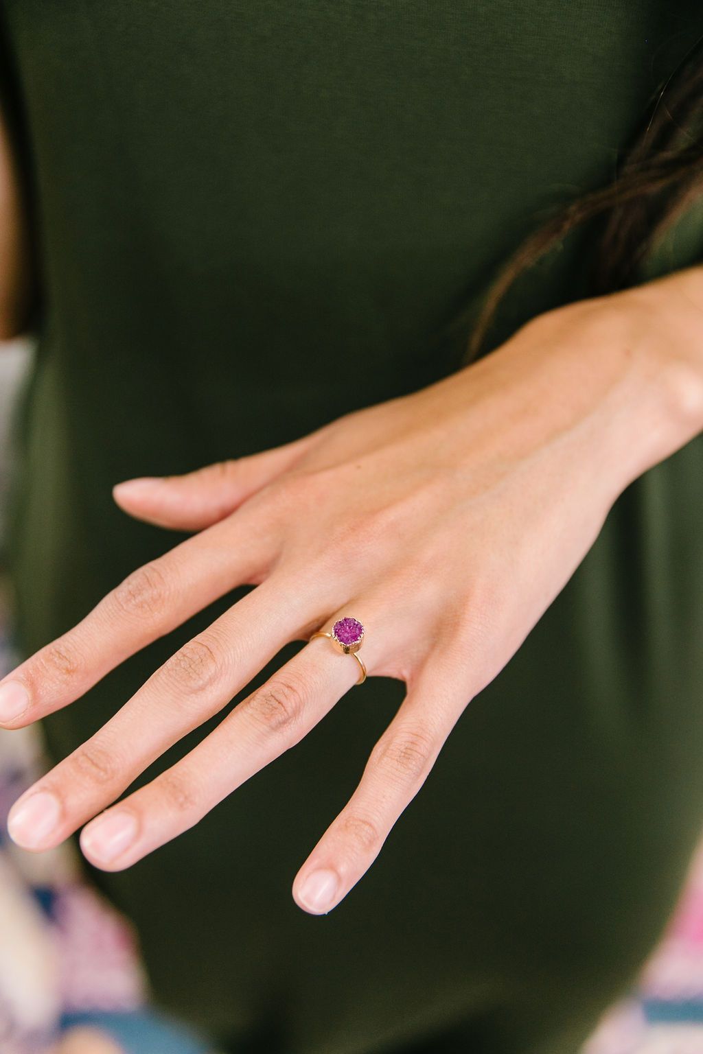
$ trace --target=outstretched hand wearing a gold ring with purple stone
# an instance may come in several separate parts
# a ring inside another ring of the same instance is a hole
[[[314,639],[182,760],[97,814],[287,642],[352,616],[366,627],[359,656],[369,677],[397,678],[407,695],[294,880],[306,911],[335,906],[376,858],[469,701],[568,581],[617,495],[661,455],[671,428],[655,417],[655,366],[632,352],[647,343],[645,328],[616,300],[542,315],[465,370],[285,446],[116,487],[132,515],[197,533],[4,679],[6,725],[70,704],[235,586],[256,588],[15,803],[15,841],[48,848],[95,817],[82,851],[119,871],[197,823],[355,684],[352,656]]]

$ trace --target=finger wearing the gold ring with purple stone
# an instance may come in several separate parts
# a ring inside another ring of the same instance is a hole
[[[369,622],[374,624],[372,616]],[[369,645],[369,672],[380,647],[378,641]],[[185,758],[87,824],[80,839],[87,859],[120,871],[192,827],[299,742],[358,676],[353,656],[335,653],[324,638],[310,641]]]

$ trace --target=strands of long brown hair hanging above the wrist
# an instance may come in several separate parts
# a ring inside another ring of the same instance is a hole
[[[696,126],[702,116],[703,37],[648,101],[642,128],[613,181],[562,207],[508,258],[489,287],[464,365],[485,350],[496,309],[519,275],[586,220],[601,221],[588,276],[590,295],[616,292],[637,280],[653,242],[703,191],[703,135]]]

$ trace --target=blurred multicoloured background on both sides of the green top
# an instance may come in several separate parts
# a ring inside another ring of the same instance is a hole
[[[31,356],[26,343],[0,345],[0,676],[16,662],[3,529]],[[8,842],[9,805],[44,764],[39,729],[0,729],[0,1054],[214,1054],[152,1006],[138,935],[85,883],[73,847]],[[703,1054],[703,851],[639,984],[582,1054]]]

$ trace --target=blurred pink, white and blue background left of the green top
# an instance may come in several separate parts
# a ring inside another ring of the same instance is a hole
[[[0,677],[17,662],[4,527],[27,341],[0,344]],[[12,803],[44,772],[41,730],[0,729],[0,1054],[216,1054],[150,999],[137,935],[97,895],[73,845],[26,853]]]

